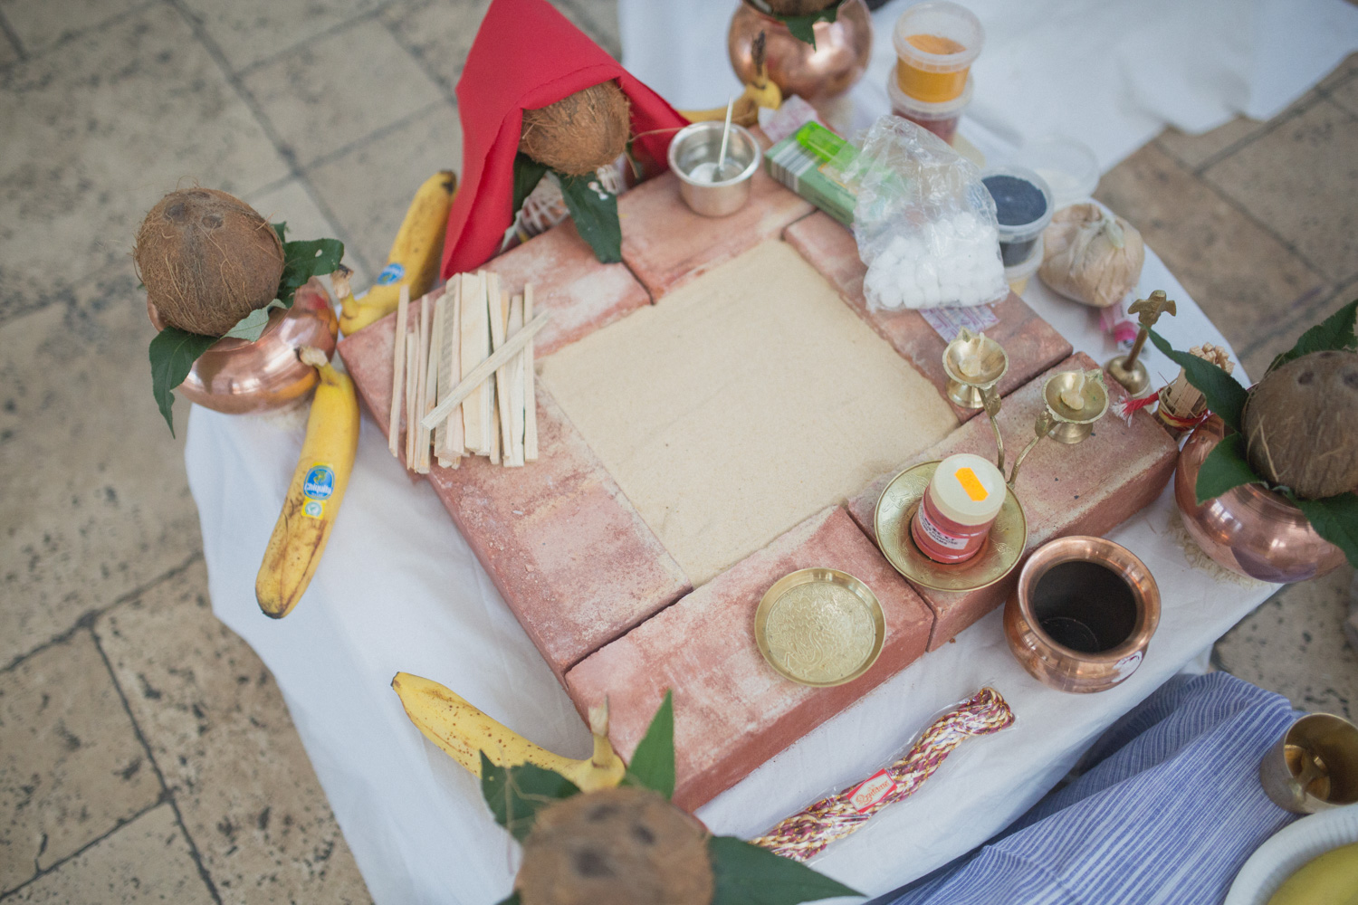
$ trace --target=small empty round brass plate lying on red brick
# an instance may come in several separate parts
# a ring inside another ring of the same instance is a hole
[[[765,592],[755,643],[769,665],[801,685],[858,678],[881,654],[887,621],[877,596],[837,569],[801,569]]]

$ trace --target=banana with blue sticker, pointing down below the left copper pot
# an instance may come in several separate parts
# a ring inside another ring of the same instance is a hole
[[[340,514],[359,450],[359,399],[353,381],[312,346],[301,349],[301,361],[320,372],[320,384],[311,400],[297,469],[255,578],[259,609],[274,619],[292,612],[307,590]]]

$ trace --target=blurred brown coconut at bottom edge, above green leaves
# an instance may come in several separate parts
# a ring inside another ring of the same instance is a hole
[[[515,887],[523,905],[708,905],[706,833],[648,788],[574,795],[538,811]]]

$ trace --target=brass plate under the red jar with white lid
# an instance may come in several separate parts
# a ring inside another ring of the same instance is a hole
[[[980,552],[964,563],[947,566],[919,552],[910,536],[910,520],[929,487],[941,460],[925,461],[906,468],[891,479],[873,516],[877,547],[896,571],[917,585],[934,590],[975,590],[993,585],[1019,564],[1024,544],[1028,543],[1028,520],[1023,505],[1010,487],[1005,505],[990,529],[990,537]]]

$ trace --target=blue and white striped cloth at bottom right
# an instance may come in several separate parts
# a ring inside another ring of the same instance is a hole
[[[1286,699],[1228,673],[1177,676],[1096,742],[1078,779],[879,901],[1221,902],[1245,859],[1294,820],[1259,786],[1259,760],[1294,718]]]

